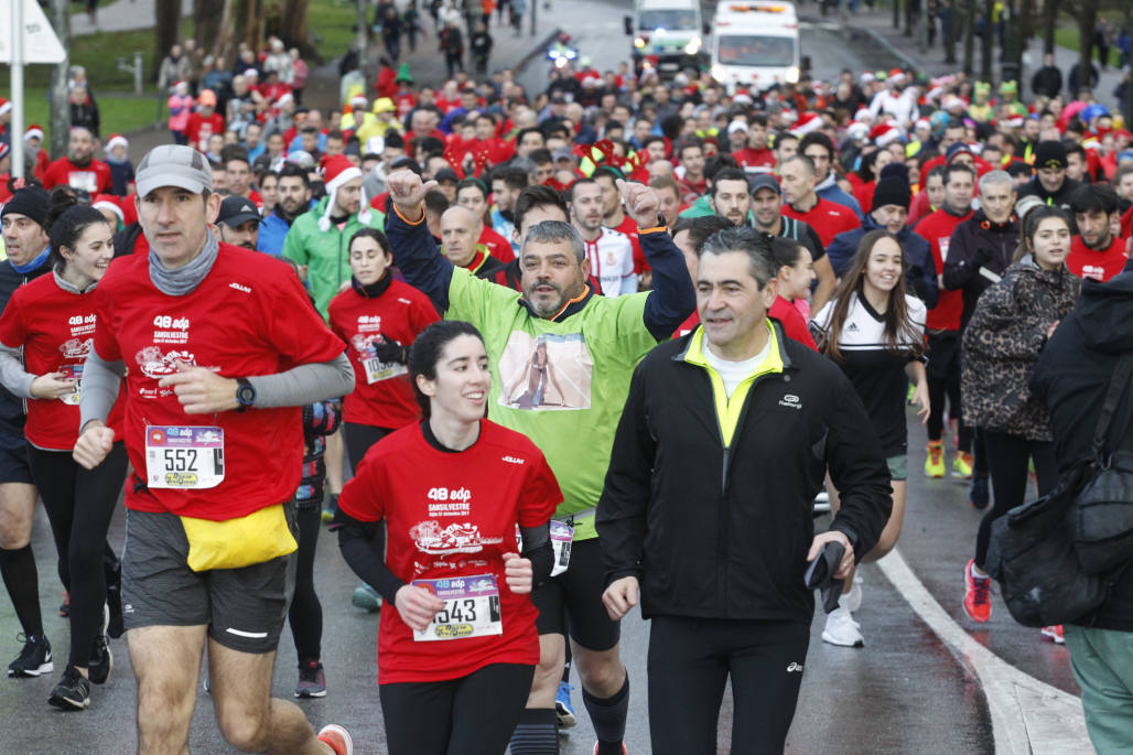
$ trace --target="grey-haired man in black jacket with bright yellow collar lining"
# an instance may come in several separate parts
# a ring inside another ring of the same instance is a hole
[[[813,596],[807,562],[828,542],[845,576],[888,519],[889,476],[841,370],[767,320],[768,238],[727,229],[697,270],[702,325],[633,373],[598,502],[611,618],[653,619],[653,752],[715,752],[729,675],[732,749],[782,752],[798,701]],[[824,469],[842,491],[815,535]],[[715,671],[705,671],[705,667]]]

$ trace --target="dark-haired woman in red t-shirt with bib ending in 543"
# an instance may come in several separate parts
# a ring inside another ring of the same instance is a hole
[[[530,592],[551,574],[563,497],[531,441],[484,418],[492,374],[472,325],[431,325],[409,371],[425,421],[369,450],[335,517],[347,563],[386,601],[389,752],[503,753],[539,660]]]

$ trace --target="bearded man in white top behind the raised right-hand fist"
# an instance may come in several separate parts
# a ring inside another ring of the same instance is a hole
[[[604,296],[637,291],[633,245],[624,234],[603,228],[605,204],[602,187],[593,178],[580,178],[570,188],[571,224],[582,237],[591,274]]]

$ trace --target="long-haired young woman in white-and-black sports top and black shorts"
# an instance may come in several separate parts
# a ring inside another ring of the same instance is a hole
[[[905,258],[897,237],[886,230],[866,234],[853,264],[834,298],[815,317],[819,350],[836,362],[861,398],[889,464],[893,511],[881,536],[863,560],[876,561],[897,543],[905,515],[909,432],[905,421],[908,381],[913,383],[918,416],[928,418],[925,376],[925,304],[905,291]],[[837,511],[837,491],[830,490]],[[845,580],[838,608],[826,617],[823,639],[832,645],[861,647],[864,638],[853,619],[861,587]]]

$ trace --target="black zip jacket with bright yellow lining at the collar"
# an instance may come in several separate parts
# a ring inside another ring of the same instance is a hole
[[[596,523],[607,580],[636,576],[646,618],[809,623],[811,501],[827,466],[842,491],[830,528],[857,559],[888,520],[888,469],[853,385],[772,326],[763,371],[730,398],[701,328],[633,372]]]

